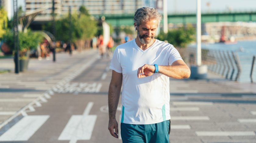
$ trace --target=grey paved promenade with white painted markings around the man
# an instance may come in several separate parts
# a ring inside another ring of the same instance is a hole
[[[19,75],[13,59],[0,59],[0,69],[12,70],[0,74],[0,142],[122,142],[107,130],[110,59],[93,50],[56,59],[31,59]],[[210,73],[207,80],[170,79],[170,141],[256,143],[255,89]]]

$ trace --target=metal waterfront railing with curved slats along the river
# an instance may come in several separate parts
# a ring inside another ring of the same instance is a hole
[[[196,48],[189,47],[182,54],[189,65],[196,64]],[[201,55],[209,71],[233,81],[256,81],[255,56],[250,53],[202,49]]]

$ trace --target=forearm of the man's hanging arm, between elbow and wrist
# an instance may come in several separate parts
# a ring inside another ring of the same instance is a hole
[[[119,102],[122,85],[110,83],[108,91],[108,115],[109,119],[116,118],[116,109]]]

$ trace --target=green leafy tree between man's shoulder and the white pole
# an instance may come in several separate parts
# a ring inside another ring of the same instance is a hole
[[[160,32],[158,39],[161,41],[167,40],[174,47],[185,48],[187,45],[195,40],[195,28],[192,25],[187,27],[179,27],[168,31],[167,34]]]

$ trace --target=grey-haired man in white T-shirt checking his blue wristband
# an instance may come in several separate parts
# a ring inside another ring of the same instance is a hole
[[[161,19],[155,8],[137,9],[137,38],[119,45],[110,64],[108,130],[118,138],[116,109],[123,84],[121,135],[125,143],[169,143],[169,77],[190,76],[179,52],[154,38]]]

